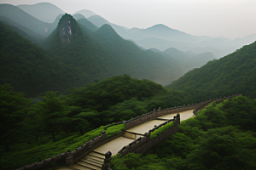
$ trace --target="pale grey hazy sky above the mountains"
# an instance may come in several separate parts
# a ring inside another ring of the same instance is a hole
[[[89,9],[128,28],[164,24],[195,36],[234,39],[256,33],[256,0],[0,0],[0,3],[53,3],[68,14]]]

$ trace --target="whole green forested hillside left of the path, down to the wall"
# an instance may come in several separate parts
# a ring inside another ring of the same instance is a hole
[[[158,107],[183,105],[182,94],[128,75],[70,88],[67,95],[49,91],[35,105],[29,105],[31,99],[16,93],[9,84],[0,85],[0,94],[3,169],[74,150],[96,138],[103,130],[101,126],[108,123],[129,120]],[[101,128],[91,131],[97,127]],[[120,130],[109,129],[112,133]]]

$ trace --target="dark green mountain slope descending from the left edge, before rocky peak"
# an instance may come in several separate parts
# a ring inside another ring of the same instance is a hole
[[[33,97],[49,90],[63,92],[88,82],[79,68],[56,61],[2,22],[0,38],[0,84],[12,83],[15,91]]]

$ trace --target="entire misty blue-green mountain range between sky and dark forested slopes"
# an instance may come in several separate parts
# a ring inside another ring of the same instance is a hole
[[[185,72],[256,39],[256,34],[232,41],[226,37],[192,36],[162,24],[128,29],[87,9],[70,15],[73,24],[66,22],[67,26],[63,27],[66,31],[61,33],[60,24],[64,23],[61,20],[68,18],[68,15],[63,18],[64,13],[51,3],[0,4],[3,24],[37,43],[54,59],[79,67],[79,71],[87,75],[86,83],[96,78],[129,74],[166,85]],[[68,35],[68,26],[72,36]],[[65,32],[66,35],[62,35]],[[67,43],[65,48],[60,41]],[[79,83],[83,82],[82,77],[78,79]]]

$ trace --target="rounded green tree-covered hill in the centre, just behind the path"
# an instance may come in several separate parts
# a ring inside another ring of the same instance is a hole
[[[143,115],[154,108],[180,105],[180,94],[146,79],[128,75],[112,77],[67,91],[67,105],[76,105],[93,125],[119,122]],[[175,94],[177,96],[175,96]],[[91,125],[91,126],[93,126]]]

